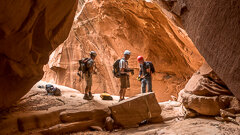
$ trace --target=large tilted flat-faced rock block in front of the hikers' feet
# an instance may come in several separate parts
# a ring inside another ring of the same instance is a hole
[[[154,93],[137,95],[109,108],[114,122],[124,128],[137,127],[143,120],[158,119],[161,114]]]

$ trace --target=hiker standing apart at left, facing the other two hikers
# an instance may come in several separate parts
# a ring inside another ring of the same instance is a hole
[[[94,71],[94,67],[95,67],[95,58],[97,56],[97,53],[95,51],[91,51],[90,52],[90,58],[87,59],[86,62],[86,73],[84,74],[85,76],[85,81],[86,81],[86,88],[85,88],[85,94],[83,99],[85,100],[92,100],[93,99],[93,95],[91,92],[91,88],[92,88],[92,74],[95,72]]]

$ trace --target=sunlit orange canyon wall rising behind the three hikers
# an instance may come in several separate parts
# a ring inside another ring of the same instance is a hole
[[[128,49],[132,52],[129,67],[135,69],[135,75],[130,77],[131,88],[127,96],[140,93],[136,58],[142,55],[155,65],[153,91],[158,101],[169,100],[171,95],[177,95],[203,62],[180,27],[179,19],[161,3],[87,1],[75,16],[68,39],[50,56],[43,80],[83,92],[85,82],[77,76],[78,60],[89,57],[89,51],[94,50],[98,54],[98,74],[93,76],[92,91],[118,95],[120,83],[113,77],[112,64]]]

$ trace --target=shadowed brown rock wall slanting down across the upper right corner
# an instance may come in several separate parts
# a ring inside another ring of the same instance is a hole
[[[172,11],[212,69],[240,99],[240,1],[178,0]]]

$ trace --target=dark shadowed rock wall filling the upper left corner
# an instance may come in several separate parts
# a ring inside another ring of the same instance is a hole
[[[68,36],[76,0],[0,0],[0,108],[43,76],[50,53]]]

